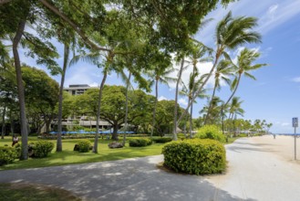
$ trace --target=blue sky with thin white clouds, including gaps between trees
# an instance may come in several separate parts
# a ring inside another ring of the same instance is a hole
[[[208,18],[214,20],[205,26],[195,37],[205,45],[213,47],[214,27],[228,11],[233,11],[233,16],[255,16],[259,18],[256,30],[263,35],[263,43],[248,46],[262,53],[257,60],[267,63],[268,66],[253,72],[257,80],[243,78],[236,96],[243,100],[242,107],[245,111],[244,119],[261,119],[272,122],[271,132],[289,133],[292,128],[292,117],[300,117],[300,0],[241,0],[226,9],[220,6]],[[57,44],[59,52],[63,47]],[[231,52],[233,58],[239,49]],[[36,66],[31,58],[21,58],[23,62]],[[59,59],[61,63],[62,58]],[[212,64],[199,66],[199,69],[209,71]],[[43,67],[39,67],[45,69]],[[46,70],[47,71],[47,70]],[[189,77],[189,70],[183,74],[183,79]],[[89,84],[97,86],[101,81],[101,71],[88,63],[79,62],[67,70],[65,87],[69,84]],[[54,77],[59,82],[59,77]],[[208,88],[212,88],[208,84]],[[112,74],[107,84],[121,85],[120,79]],[[160,100],[174,99],[174,85],[171,87],[160,86]],[[209,92],[211,93],[211,91]],[[154,94],[154,91],[152,91]],[[228,99],[230,90],[223,86],[218,94],[223,100]],[[198,100],[194,107],[193,116],[199,116],[205,100]],[[185,108],[187,100],[180,97],[181,106]]]

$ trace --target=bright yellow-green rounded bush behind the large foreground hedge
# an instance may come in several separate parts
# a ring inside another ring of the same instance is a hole
[[[216,125],[204,125],[200,128],[195,135],[195,138],[200,139],[212,139],[225,143],[225,136],[222,134],[221,130]]]

